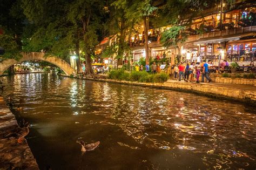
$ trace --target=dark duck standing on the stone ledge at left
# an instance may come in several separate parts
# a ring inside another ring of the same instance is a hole
[[[15,137],[15,138],[18,138],[18,143],[21,143],[23,142],[25,136],[29,134],[29,127],[30,127],[30,124],[25,123],[24,127],[19,127],[15,130],[15,132],[6,134],[4,138]]]

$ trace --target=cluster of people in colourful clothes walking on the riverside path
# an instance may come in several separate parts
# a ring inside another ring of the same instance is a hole
[[[186,65],[181,62],[179,66],[174,66],[174,78],[179,81],[183,78],[184,81],[196,81],[196,83],[199,83],[199,77],[200,74],[202,74],[201,82],[204,82],[204,79],[206,78],[210,83],[212,81],[209,77],[211,64],[211,60],[208,60],[207,63],[204,60],[203,63],[192,62],[191,64],[187,63]]]

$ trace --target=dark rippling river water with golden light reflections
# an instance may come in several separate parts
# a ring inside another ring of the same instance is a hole
[[[256,167],[253,107],[47,73],[3,81],[5,98],[24,99],[13,111],[32,124],[27,139],[41,169]],[[100,146],[82,155],[78,138]]]

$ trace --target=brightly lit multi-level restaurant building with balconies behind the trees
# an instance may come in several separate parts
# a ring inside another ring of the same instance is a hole
[[[161,33],[171,26],[149,26],[149,55],[151,58],[181,56],[181,60],[198,61],[226,59],[231,62],[256,60],[256,6],[251,1],[236,1],[233,10],[222,4],[204,11],[205,17],[193,19],[187,29],[189,36],[184,44],[166,49],[160,44]],[[150,25],[150,24],[149,24]],[[203,33],[201,32],[203,30]],[[143,24],[127,39],[134,62],[145,58]]]

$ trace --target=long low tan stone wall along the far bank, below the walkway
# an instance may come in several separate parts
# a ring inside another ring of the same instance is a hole
[[[69,77],[64,74],[61,76]],[[237,84],[218,84],[218,83],[188,83],[184,81],[168,80],[165,83],[139,83],[134,81],[112,80],[104,78],[74,77],[79,79],[103,81],[126,85],[153,87],[158,89],[176,90],[181,92],[193,92],[203,96],[211,96],[219,99],[236,100],[242,103],[256,106],[256,88],[254,86]]]

